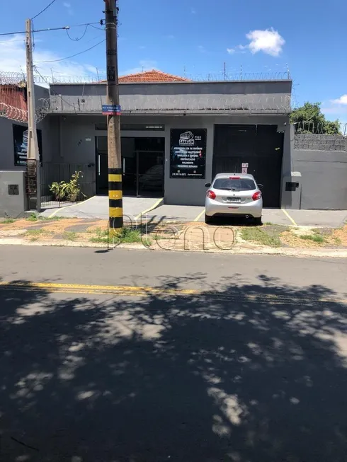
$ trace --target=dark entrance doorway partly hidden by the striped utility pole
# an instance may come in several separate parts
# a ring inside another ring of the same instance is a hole
[[[123,195],[164,195],[164,138],[122,137]],[[108,194],[107,137],[96,137],[98,194]]]

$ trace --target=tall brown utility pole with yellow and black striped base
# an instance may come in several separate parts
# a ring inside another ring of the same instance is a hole
[[[107,115],[109,227],[110,236],[115,236],[115,230],[123,227],[123,171],[120,154],[120,104],[117,51],[118,6],[116,0],[104,1],[106,6],[107,104],[103,106],[103,114]]]

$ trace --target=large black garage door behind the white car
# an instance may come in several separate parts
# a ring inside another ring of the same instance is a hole
[[[213,175],[248,173],[263,187],[264,207],[280,207],[283,133],[277,125],[215,125]]]

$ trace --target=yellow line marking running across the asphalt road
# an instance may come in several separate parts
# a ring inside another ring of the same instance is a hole
[[[55,282],[0,282],[0,289],[10,290],[33,290],[33,291],[48,291],[62,292],[70,294],[116,294],[127,296],[143,296],[145,294],[162,294],[162,295],[190,295],[190,296],[206,296],[218,297],[219,299],[231,301],[269,301],[271,303],[317,303],[317,302],[335,302],[346,304],[347,299],[332,299],[332,298],[305,298],[295,296],[285,296],[277,294],[239,294],[219,291],[203,291],[198,289],[169,289],[166,287],[139,287],[139,286],[110,286],[110,285],[94,285],[94,284],[59,284]]]

